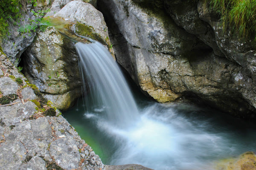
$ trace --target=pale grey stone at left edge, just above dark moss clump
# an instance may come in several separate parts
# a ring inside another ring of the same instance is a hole
[[[18,85],[10,77],[0,78],[0,91],[4,96],[8,94],[15,94],[18,90]]]

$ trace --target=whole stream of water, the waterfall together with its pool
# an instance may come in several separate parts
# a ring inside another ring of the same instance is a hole
[[[76,50],[85,96],[64,117],[104,164],[210,170],[214,161],[256,151],[253,123],[212,109],[150,101],[135,86],[129,89],[99,42],[78,42]]]

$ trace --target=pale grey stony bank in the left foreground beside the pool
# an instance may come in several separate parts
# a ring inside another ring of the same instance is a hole
[[[25,80],[4,55],[0,55],[0,68],[5,76],[10,74]],[[13,83],[17,85],[17,82]],[[26,85],[25,81],[22,85]],[[22,85],[12,91],[12,94],[19,95],[19,99],[10,105],[0,103],[0,170],[70,170],[70,167],[79,170],[103,169],[99,156],[67,120],[61,115],[42,115],[41,110],[37,111],[35,108],[43,103],[38,101],[39,104],[35,102],[38,104],[35,105],[25,99],[35,94],[30,91],[31,88],[23,88]],[[7,91],[1,90],[3,94]],[[4,96],[0,94],[0,98],[2,97]],[[38,96],[36,99],[38,100]],[[60,149],[59,146],[64,147]]]

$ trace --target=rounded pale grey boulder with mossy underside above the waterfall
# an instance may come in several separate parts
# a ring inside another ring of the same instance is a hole
[[[56,13],[54,17],[79,22],[73,25],[73,31],[80,36],[89,37],[101,42],[109,49],[115,59],[104,17],[91,4],[84,3],[82,0],[71,1],[61,11]]]

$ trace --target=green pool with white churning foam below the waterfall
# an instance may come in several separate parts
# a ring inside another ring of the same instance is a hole
[[[141,121],[130,129],[118,129],[104,122],[104,113],[99,111],[85,113],[82,99],[64,113],[104,164],[204,170],[209,169],[212,161],[256,152],[253,122],[204,107],[158,104],[137,90],[134,94]]]

